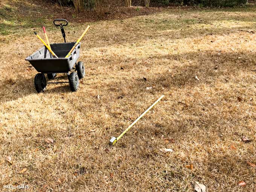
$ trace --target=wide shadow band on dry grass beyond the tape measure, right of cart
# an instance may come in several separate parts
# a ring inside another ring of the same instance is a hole
[[[163,92],[163,87],[168,90],[171,88],[182,87],[193,88],[200,84],[214,86],[217,79],[218,81],[227,83],[230,81],[230,75],[236,76],[240,72],[251,72],[251,70],[255,70],[255,61],[249,59],[247,56],[248,54],[251,55],[250,57],[255,57],[255,54],[250,52],[221,53],[220,55],[216,52],[190,52],[185,54],[155,55],[150,59],[161,60],[159,65],[165,66],[165,68],[169,70],[162,73],[154,72],[153,75],[150,75],[152,78],[147,78],[147,81],[143,81],[144,74],[142,74],[141,79],[127,81],[125,84],[122,83],[123,80],[114,80],[112,83],[108,84],[108,86],[111,87],[111,90],[114,90],[114,87],[122,87],[124,90],[134,88],[134,90],[139,92],[141,91],[141,93],[145,92],[146,87],[151,87],[152,85],[154,85],[155,88],[149,91],[151,93]],[[164,59],[163,62],[162,59]],[[191,64],[186,63],[184,65],[177,66],[172,64],[172,61],[174,60],[181,62],[188,60]],[[133,62],[133,60],[130,61],[130,63]],[[143,64],[140,66],[143,66]],[[145,64],[145,66],[149,67],[148,64]],[[127,70],[130,71],[131,68]],[[154,71],[153,68],[150,70]],[[130,73],[129,71],[128,73]],[[195,78],[198,74],[201,75],[198,76],[200,81]],[[251,78],[253,78],[253,76],[251,76]],[[133,91],[131,90],[130,94],[133,94],[132,92]]]

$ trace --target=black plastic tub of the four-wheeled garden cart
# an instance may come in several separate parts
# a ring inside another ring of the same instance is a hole
[[[58,58],[52,58],[49,50],[43,46],[25,60],[29,61],[41,73],[67,73],[74,67],[79,58],[81,43],[76,46],[68,58],[65,58],[74,45],[75,42],[50,44],[52,51]]]

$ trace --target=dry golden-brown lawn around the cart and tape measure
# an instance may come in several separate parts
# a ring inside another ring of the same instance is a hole
[[[87,75],[76,93],[68,85],[35,92],[37,72],[24,61],[42,46],[32,29],[0,36],[1,190],[194,191],[195,180],[208,191],[255,191],[256,171],[246,163],[256,163],[255,16],[256,6],[170,9],[90,23],[80,56]],[[70,23],[67,41],[87,24]],[[63,41],[59,29],[47,29],[51,42]],[[41,26],[36,30],[43,37]]]

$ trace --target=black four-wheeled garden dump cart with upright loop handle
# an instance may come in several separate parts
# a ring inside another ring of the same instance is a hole
[[[64,24],[59,22],[65,22]],[[79,79],[84,78],[85,69],[82,61],[78,61],[81,43],[78,43],[71,55],[67,58],[65,56],[69,53],[76,42],[66,43],[66,35],[63,26],[67,26],[68,22],[64,19],[56,19],[53,21],[55,26],[61,27],[62,37],[65,43],[50,44],[52,51],[58,56],[53,58],[49,50],[43,46],[25,60],[39,72],[35,75],[35,89],[38,93],[46,90],[47,84],[69,83],[71,91],[77,91],[79,86]],[[49,80],[56,77],[56,73],[66,73],[69,81],[66,82],[47,82],[45,74]]]

